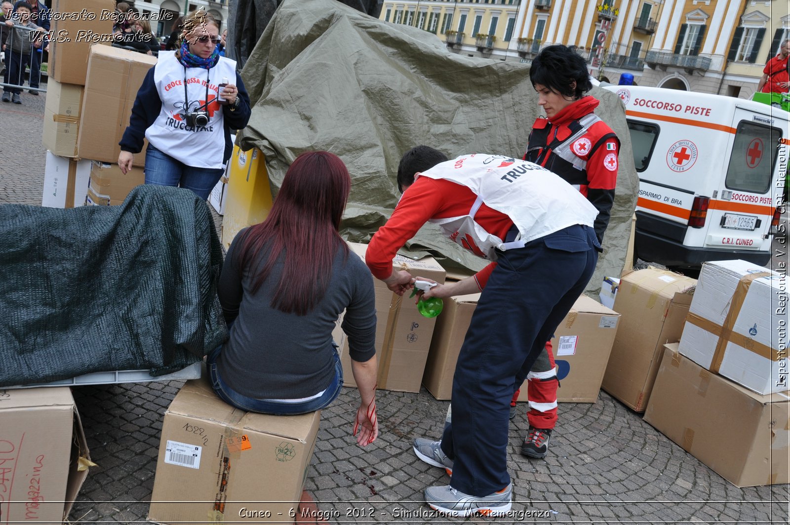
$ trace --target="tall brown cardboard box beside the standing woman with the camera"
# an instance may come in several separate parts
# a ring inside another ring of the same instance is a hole
[[[118,47],[93,46],[82,99],[83,123],[77,154],[93,161],[118,162],[123,132],[129,126],[132,106],[145,74],[156,58]],[[135,166],[145,166],[145,145],[134,154]]]

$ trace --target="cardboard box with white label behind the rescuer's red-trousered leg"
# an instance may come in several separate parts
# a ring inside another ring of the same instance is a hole
[[[609,360],[620,314],[588,296],[579,297],[551,339],[558,371],[557,401],[594,403]],[[518,401],[527,401],[527,382]]]

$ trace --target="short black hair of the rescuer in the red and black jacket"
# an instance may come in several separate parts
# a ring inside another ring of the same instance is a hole
[[[574,47],[557,44],[544,47],[529,66],[532,87],[544,85],[562,96],[578,100],[592,89],[587,62]],[[574,82],[576,85],[574,85]]]

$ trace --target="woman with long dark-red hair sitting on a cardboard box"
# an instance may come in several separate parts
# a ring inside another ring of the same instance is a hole
[[[231,243],[218,293],[230,338],[209,354],[216,395],[248,412],[305,414],[333,402],[343,368],[332,330],[342,323],[361,402],[354,435],[378,435],[373,278],[340,238],[351,177],[337,155],[296,157],[269,217]],[[358,432],[359,430],[359,432]]]

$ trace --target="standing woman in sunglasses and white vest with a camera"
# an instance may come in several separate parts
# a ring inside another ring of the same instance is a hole
[[[137,91],[118,164],[126,173],[145,150],[145,183],[209,198],[231,157],[231,130],[246,127],[250,96],[236,62],[219,55],[220,28],[204,9],[189,13],[178,51],[162,51]],[[224,84],[224,86],[220,86]]]

